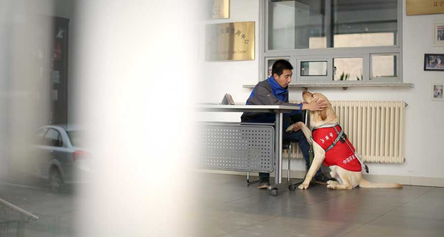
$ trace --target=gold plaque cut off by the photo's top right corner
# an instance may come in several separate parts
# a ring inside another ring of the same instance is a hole
[[[407,16],[444,13],[444,0],[406,0]]]

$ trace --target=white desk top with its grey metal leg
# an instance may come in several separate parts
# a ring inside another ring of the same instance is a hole
[[[282,118],[284,113],[299,110],[299,106],[285,105],[215,105],[199,104],[195,106],[198,112],[261,112],[276,114],[275,125],[275,185],[282,183]],[[270,188],[274,188],[270,186]]]

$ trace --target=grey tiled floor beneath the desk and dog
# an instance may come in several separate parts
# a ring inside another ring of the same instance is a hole
[[[314,185],[272,197],[245,176],[199,176],[197,226],[205,237],[444,237],[444,188]]]

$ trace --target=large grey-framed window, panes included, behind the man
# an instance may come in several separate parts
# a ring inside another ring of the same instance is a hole
[[[402,82],[402,0],[266,0],[260,10],[262,80],[270,59],[285,58],[292,84]]]

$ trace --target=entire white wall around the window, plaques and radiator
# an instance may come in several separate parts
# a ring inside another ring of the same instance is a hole
[[[203,62],[205,97],[204,102],[220,102],[224,93],[231,93],[235,102],[245,102],[251,89],[242,85],[258,82],[258,0],[231,0],[230,19],[208,21],[206,24],[255,21],[256,59],[250,61]],[[414,88],[349,88],[311,89],[326,94],[331,100],[403,100],[407,102],[406,140],[404,164],[370,163],[370,173],[374,175],[429,177],[444,180],[444,102],[431,101],[431,82],[444,83],[444,72],[423,71],[425,53],[444,54],[444,47],[432,47],[432,26],[436,20],[444,21],[444,14],[406,16],[405,2],[403,14],[403,75],[405,83],[413,83]],[[204,29],[204,28],[203,28]],[[201,33],[203,36],[204,34]],[[203,39],[200,50],[204,51]],[[203,56],[203,52],[201,56]],[[204,61],[204,57],[201,57]],[[290,100],[301,99],[301,89],[290,89]],[[239,121],[240,114],[203,115],[202,119]],[[295,161],[296,170],[304,170],[300,160]],[[423,179],[425,180],[425,179]],[[412,182],[414,184],[414,182]],[[438,185],[444,185],[440,181]],[[421,183],[424,184],[424,183]],[[425,183],[427,184],[427,183]]]

